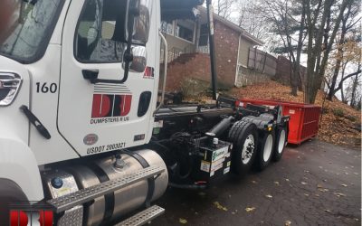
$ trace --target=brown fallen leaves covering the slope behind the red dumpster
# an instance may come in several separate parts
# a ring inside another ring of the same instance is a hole
[[[291,95],[291,88],[283,86],[276,81],[268,81],[250,85],[244,88],[234,88],[231,95],[238,99],[273,99],[281,101],[291,101],[303,103],[303,92],[298,91],[298,96]],[[319,91],[315,105],[321,107],[323,104],[323,116],[319,123],[320,140],[341,145],[341,146],[361,146],[361,113],[349,107],[338,99],[329,101],[323,100],[325,94]]]

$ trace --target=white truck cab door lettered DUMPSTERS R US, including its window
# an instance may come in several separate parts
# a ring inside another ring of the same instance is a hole
[[[146,52],[157,52],[159,42],[156,19],[152,19],[156,17],[151,10],[155,1],[141,2],[144,5],[133,33],[139,42],[133,43],[132,50],[146,56]],[[148,141],[157,99],[153,95],[157,90],[157,57],[148,54],[144,59],[134,58],[134,66],[135,61],[141,61],[141,69],[129,71],[128,79],[117,83],[124,77],[128,5],[126,0],[72,1],[67,14],[62,34],[57,122],[62,137],[79,155]],[[147,60],[146,70],[142,70],[143,60]],[[91,83],[91,76],[98,76],[102,82]]]

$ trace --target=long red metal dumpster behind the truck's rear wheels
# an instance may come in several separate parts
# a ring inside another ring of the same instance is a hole
[[[320,107],[311,104],[300,104],[287,101],[267,100],[267,99],[240,99],[237,106],[246,104],[264,106],[282,106],[282,114],[290,115],[288,142],[300,145],[301,142],[316,137],[319,128]]]

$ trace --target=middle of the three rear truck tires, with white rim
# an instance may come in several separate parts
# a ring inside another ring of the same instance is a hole
[[[258,171],[264,170],[271,162],[275,146],[275,132],[262,132],[262,137],[258,143],[258,152],[256,154],[255,168]]]

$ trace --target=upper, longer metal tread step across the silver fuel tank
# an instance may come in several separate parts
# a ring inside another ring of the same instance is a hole
[[[93,185],[85,189],[81,189],[75,193],[69,193],[61,197],[47,201],[52,205],[54,211],[64,212],[71,209],[74,206],[91,202],[97,197],[100,197],[107,193],[112,193],[121,188],[127,187],[130,184],[138,183],[139,181],[154,177],[155,175],[161,174],[165,171],[164,168],[159,166],[149,166],[141,169],[138,172],[128,174],[123,177],[119,177],[108,182]]]

